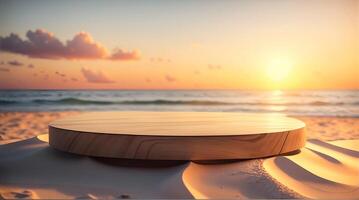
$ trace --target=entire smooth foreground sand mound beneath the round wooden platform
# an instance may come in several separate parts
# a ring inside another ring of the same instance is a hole
[[[294,155],[244,161],[77,156],[39,136],[0,145],[3,198],[333,198],[359,196],[359,140],[311,140]]]

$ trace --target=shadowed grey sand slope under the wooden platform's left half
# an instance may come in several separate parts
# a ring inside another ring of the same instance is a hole
[[[182,183],[186,162],[147,163],[59,152],[37,138],[0,146],[0,191],[32,198],[192,198]],[[24,189],[26,188],[26,189]]]

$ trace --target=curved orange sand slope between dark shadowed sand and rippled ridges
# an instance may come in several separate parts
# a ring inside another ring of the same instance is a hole
[[[183,181],[196,199],[276,199],[300,197],[263,171],[262,160],[198,164],[191,162]]]

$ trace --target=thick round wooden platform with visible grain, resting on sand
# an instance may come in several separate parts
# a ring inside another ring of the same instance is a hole
[[[71,153],[151,160],[260,158],[300,149],[305,124],[278,115],[96,112],[49,124],[49,143]]]

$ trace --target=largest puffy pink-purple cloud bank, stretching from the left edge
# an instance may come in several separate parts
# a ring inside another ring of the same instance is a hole
[[[109,55],[108,50],[94,41],[87,32],[77,33],[66,43],[61,42],[53,33],[37,29],[27,31],[27,39],[21,39],[17,34],[0,37],[0,50],[4,52],[25,55],[31,58],[46,59],[111,59],[138,60],[138,51],[116,50]]]

